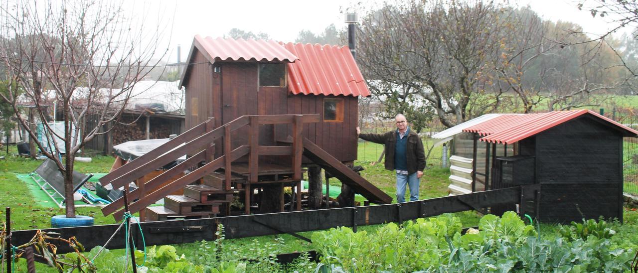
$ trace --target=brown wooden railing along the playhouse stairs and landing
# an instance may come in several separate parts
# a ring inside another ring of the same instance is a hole
[[[169,140],[166,144],[163,144],[151,152],[140,156],[140,158],[122,165],[120,168],[108,173],[100,179],[100,183],[103,186],[112,184],[115,189],[122,186],[126,187],[131,181],[144,177],[147,173],[175,161],[175,159],[184,156],[184,154],[195,154],[153,179],[144,182],[138,189],[131,191],[130,194],[128,194],[129,200],[137,199],[129,205],[129,210],[133,213],[144,209],[148,205],[170,195],[170,193],[177,189],[181,189],[222,167],[225,168],[226,176],[223,188],[226,191],[230,190],[232,161],[248,155],[249,178],[246,183],[246,188],[244,189],[244,194],[246,195],[246,203],[249,204],[251,193],[250,184],[257,182],[259,170],[258,159],[260,155],[292,156],[293,180],[301,179],[301,160],[303,151],[302,131],[303,124],[308,122],[320,122],[320,116],[318,114],[244,115],[212,130],[212,124],[214,124],[214,122],[211,118],[173,138],[172,140]],[[292,146],[259,145],[260,124],[292,124]],[[232,132],[247,125],[249,126],[248,145],[240,145],[239,147],[232,149]],[[224,138],[223,155],[219,158],[213,158],[214,152],[212,145],[214,145],[214,142],[221,137]],[[204,149],[202,149],[202,147],[204,147]],[[193,170],[193,172],[189,172],[188,174],[169,182],[170,179],[184,173],[184,171],[197,167],[202,161],[205,163],[203,166],[200,166]],[[121,209],[123,206],[123,198],[119,198],[118,200],[115,200],[103,207],[102,213],[104,215],[114,213],[115,219],[119,220],[124,214],[124,210]],[[250,213],[249,205],[246,206],[246,213]]]

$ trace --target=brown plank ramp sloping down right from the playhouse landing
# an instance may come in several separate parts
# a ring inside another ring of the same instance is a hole
[[[342,183],[352,187],[355,192],[364,196],[370,202],[378,204],[392,203],[392,197],[381,189],[376,188],[375,185],[361,177],[359,173],[343,165],[341,161],[331,156],[328,152],[323,151],[308,138],[304,138],[304,156],[320,165],[334,177],[337,177]]]

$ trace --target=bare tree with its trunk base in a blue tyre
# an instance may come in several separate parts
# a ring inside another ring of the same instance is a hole
[[[6,1],[0,7],[0,60],[7,79],[2,98],[11,103],[42,154],[63,173],[66,200],[73,200],[76,153],[96,135],[106,133],[104,125],[119,117],[133,85],[157,64],[151,59],[158,55],[160,24],[146,29],[142,22],[147,18],[128,18],[121,5]],[[52,102],[63,116],[62,133],[47,122],[47,106]],[[38,140],[33,121],[20,115],[22,105],[36,110],[44,140]],[[97,117],[93,128],[84,126],[89,115]],[[63,159],[56,151],[59,140],[64,142]],[[66,217],[75,218],[73,202],[66,202]]]

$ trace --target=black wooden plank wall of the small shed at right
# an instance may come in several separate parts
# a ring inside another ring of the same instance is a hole
[[[528,140],[541,186],[540,220],[622,219],[621,133],[591,117],[579,117]]]

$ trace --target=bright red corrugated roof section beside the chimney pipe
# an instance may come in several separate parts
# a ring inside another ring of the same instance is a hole
[[[370,96],[348,47],[282,44],[299,57],[288,63],[288,88],[293,94]]]

